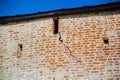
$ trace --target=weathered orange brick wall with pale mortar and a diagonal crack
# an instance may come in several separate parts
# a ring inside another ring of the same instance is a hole
[[[60,16],[53,30],[52,18],[1,25],[0,80],[120,80],[120,11]]]

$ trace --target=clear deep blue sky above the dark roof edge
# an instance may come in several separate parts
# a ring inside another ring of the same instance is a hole
[[[120,0],[0,0],[0,16],[14,16],[61,8],[75,8]]]

